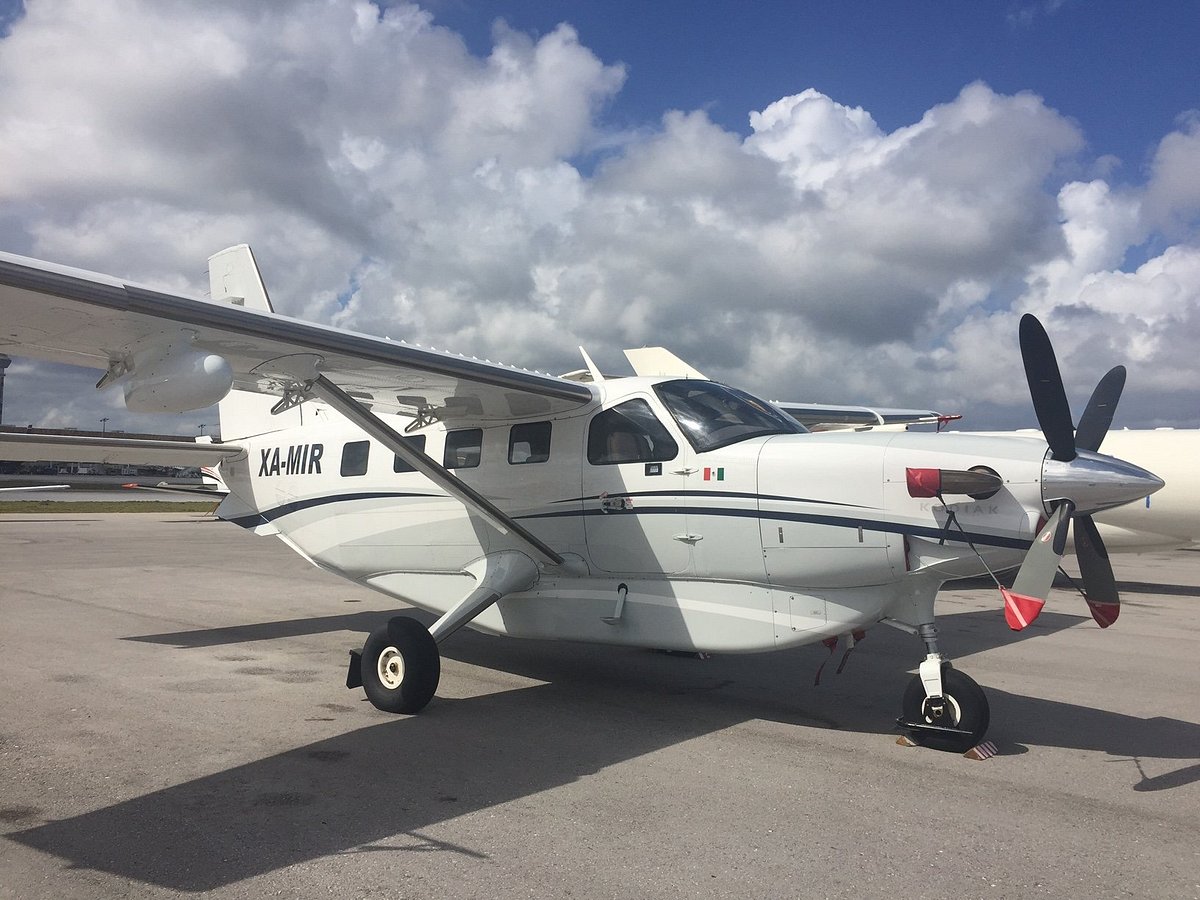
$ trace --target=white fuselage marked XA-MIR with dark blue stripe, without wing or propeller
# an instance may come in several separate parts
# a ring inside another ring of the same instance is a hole
[[[779,433],[700,451],[656,395],[661,380],[607,382],[599,404],[572,415],[408,432],[564,558],[473,626],[664,649],[808,643],[910,618],[914,598],[931,602],[983,560],[1016,565],[1044,515],[1044,444]],[[630,402],[661,428],[659,449],[612,462],[595,428]],[[520,548],[332,410],[239,443],[246,456],[222,467],[224,517],[404,602],[444,613],[470,589],[467,566]],[[1003,478],[991,497],[910,494],[910,468],[978,466]]]

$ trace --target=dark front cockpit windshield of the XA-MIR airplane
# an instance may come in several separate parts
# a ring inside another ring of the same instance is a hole
[[[803,434],[791,416],[754,395],[715,382],[684,379],[654,386],[696,452],[763,434]]]

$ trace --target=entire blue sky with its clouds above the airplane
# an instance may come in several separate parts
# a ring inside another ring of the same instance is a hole
[[[1200,13],[1112,0],[0,0],[0,248],[541,371],[1200,426]],[[5,424],[197,433],[17,359]]]

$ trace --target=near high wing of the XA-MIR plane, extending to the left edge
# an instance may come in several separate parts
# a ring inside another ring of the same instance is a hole
[[[131,378],[154,380],[200,366],[202,377],[193,382],[216,383],[221,360],[227,364],[226,378],[232,372],[239,390],[287,394],[287,379],[278,371],[294,371],[296,366],[287,361],[300,359],[305,365],[299,368],[314,367],[362,403],[442,419],[553,415],[580,408],[594,396],[590,385],[550,374],[167,294],[2,252],[0,353],[103,371],[97,386],[124,378],[131,407]],[[204,368],[210,364],[212,371]],[[216,398],[197,388],[194,396],[180,401],[194,406],[173,412],[209,406]]]

